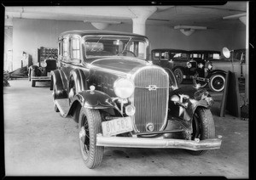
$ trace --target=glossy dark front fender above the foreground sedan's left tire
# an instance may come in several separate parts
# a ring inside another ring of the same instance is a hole
[[[107,93],[102,93],[97,90],[93,92],[90,90],[79,92],[73,98],[73,101],[77,100],[84,108],[88,109],[108,109],[115,107],[112,98],[110,98]]]

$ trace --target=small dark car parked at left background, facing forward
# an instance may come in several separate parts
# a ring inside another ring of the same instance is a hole
[[[56,59],[51,57],[44,59],[39,65],[31,65],[28,68],[28,79],[31,81],[31,86],[35,87],[36,82],[50,82],[50,71],[56,68]]]

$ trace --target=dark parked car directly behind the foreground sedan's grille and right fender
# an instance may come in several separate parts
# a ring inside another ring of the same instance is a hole
[[[188,51],[172,48],[153,49],[151,59],[154,65],[172,70],[177,78],[177,84],[195,75],[197,61],[189,59]]]

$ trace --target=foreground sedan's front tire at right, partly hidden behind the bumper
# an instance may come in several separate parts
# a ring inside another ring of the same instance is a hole
[[[215,126],[211,110],[198,107],[192,119],[193,133],[191,140],[199,138],[200,140],[215,138]],[[207,150],[189,150],[192,155],[203,155]]]

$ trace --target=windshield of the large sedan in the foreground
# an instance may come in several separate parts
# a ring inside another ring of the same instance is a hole
[[[84,56],[86,59],[104,56],[130,56],[147,58],[148,40],[143,37],[86,36]]]

